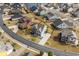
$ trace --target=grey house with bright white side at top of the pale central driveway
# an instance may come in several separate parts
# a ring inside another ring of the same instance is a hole
[[[32,26],[32,34],[33,35],[38,35],[40,37],[43,37],[47,30],[46,25],[41,25],[41,24],[33,24]]]

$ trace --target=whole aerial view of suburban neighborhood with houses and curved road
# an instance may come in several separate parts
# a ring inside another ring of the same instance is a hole
[[[0,4],[0,56],[78,53],[78,3]]]

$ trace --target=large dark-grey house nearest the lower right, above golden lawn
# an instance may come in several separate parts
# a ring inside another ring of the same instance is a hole
[[[60,33],[60,39],[61,42],[65,44],[74,44],[78,45],[78,38],[76,36],[76,33],[74,31],[65,29]]]

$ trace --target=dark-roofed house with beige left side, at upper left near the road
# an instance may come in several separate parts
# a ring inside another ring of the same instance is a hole
[[[3,19],[10,19],[10,20],[16,20],[23,17],[19,10],[10,10],[10,9],[4,9]]]

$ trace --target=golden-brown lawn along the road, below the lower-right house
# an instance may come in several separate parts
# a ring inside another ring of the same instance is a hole
[[[72,47],[71,45],[64,45],[53,39],[49,39],[45,45],[51,48],[54,47],[63,51],[71,51],[71,52],[77,52],[77,53],[79,52],[79,47],[76,48],[76,47]]]

